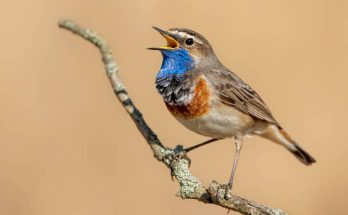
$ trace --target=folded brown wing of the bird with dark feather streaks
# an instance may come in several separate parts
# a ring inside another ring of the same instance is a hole
[[[213,79],[211,83],[222,103],[280,127],[261,97],[227,68],[211,70],[207,75]]]

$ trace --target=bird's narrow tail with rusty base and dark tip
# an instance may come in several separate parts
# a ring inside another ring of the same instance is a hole
[[[312,163],[316,162],[316,160],[305,150],[303,150],[282,128],[275,125],[270,125],[261,136],[284,146],[305,165],[311,165]]]

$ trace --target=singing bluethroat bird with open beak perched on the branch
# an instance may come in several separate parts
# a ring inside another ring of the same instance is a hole
[[[163,56],[156,88],[168,110],[186,128],[213,138],[199,146],[234,138],[236,153],[229,190],[242,139],[247,135],[278,143],[305,165],[316,162],[280,126],[255,90],[220,62],[202,35],[184,28],[154,29],[167,41],[166,46],[149,49],[159,50]]]

